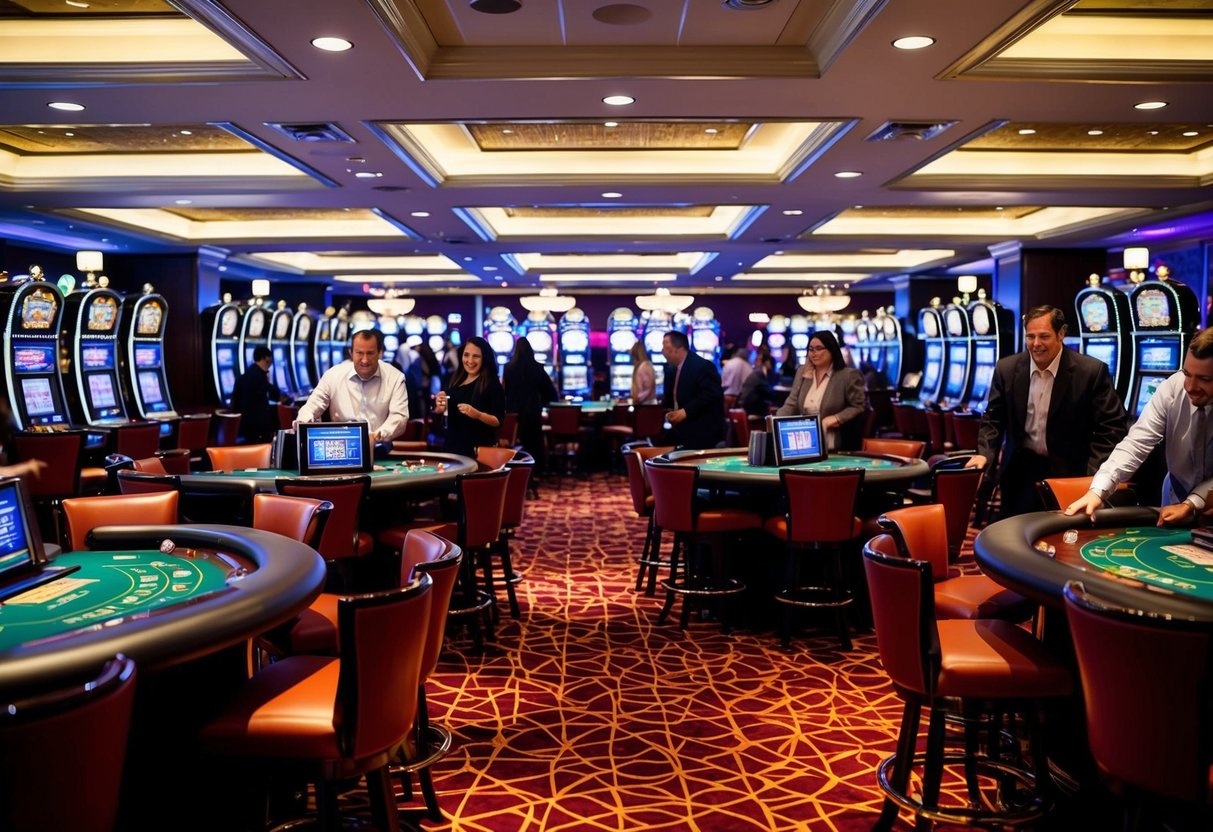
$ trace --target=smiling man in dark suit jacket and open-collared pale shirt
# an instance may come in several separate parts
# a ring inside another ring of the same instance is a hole
[[[1038,480],[1093,475],[1128,429],[1107,366],[1065,349],[1065,330],[1060,309],[1030,309],[1027,349],[995,366],[978,452],[967,467],[991,475],[1002,448],[1001,517],[1043,511]]]

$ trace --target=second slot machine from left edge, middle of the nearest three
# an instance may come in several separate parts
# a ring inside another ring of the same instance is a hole
[[[106,281],[106,278],[101,278]],[[118,380],[118,330],[121,296],[104,285],[86,285],[63,300],[59,343],[69,360],[63,378],[72,421],[90,427],[114,427],[130,421]],[[89,434],[89,444],[104,444],[104,432]]]

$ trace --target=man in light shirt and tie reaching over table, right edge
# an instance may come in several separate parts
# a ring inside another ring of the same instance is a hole
[[[1094,515],[1104,500],[1126,481],[1158,443],[1166,443],[1167,478],[1162,481],[1158,525],[1188,523],[1206,509],[1213,489],[1213,326],[1192,338],[1184,367],[1168,376],[1146,403],[1107,461],[1090,480],[1090,490],[1066,506],[1066,514]]]

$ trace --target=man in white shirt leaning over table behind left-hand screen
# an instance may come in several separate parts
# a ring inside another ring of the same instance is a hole
[[[383,358],[383,334],[354,332],[349,360],[330,367],[300,408],[298,422],[314,422],[328,410],[334,422],[366,422],[371,443],[389,443],[409,423],[404,374]]]

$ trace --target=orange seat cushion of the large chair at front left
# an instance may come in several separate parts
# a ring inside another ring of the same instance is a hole
[[[332,725],[340,661],[290,656],[254,676],[206,725],[203,748],[215,754],[337,759]]]

